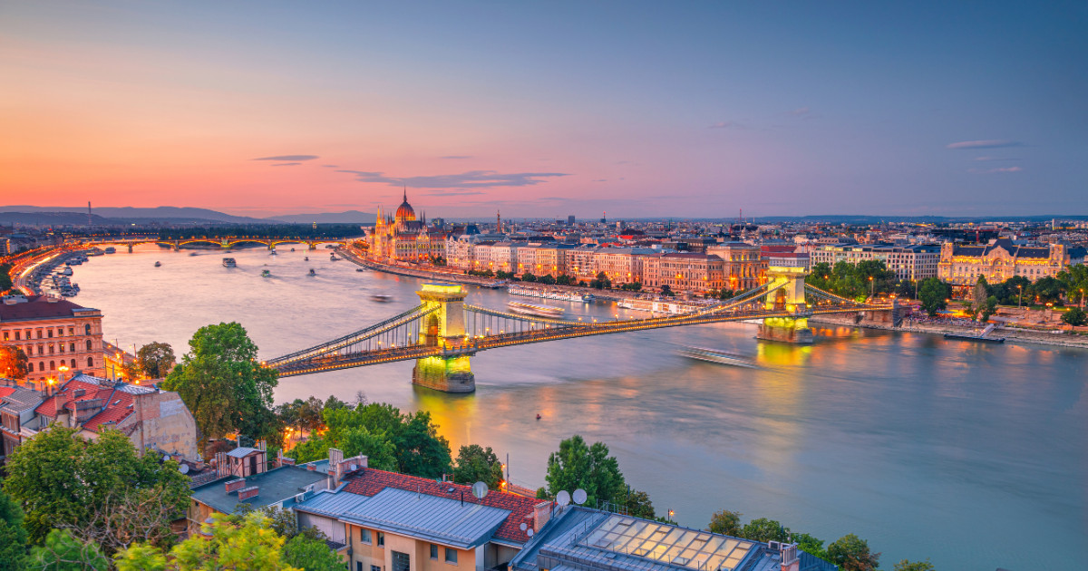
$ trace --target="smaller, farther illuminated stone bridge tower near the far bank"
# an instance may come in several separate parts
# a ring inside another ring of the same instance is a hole
[[[813,330],[808,327],[808,306],[805,303],[805,276],[808,259],[772,257],[767,266],[767,286],[779,289],[767,295],[764,309],[784,311],[792,315],[764,318],[756,338],[781,343],[808,344]]]

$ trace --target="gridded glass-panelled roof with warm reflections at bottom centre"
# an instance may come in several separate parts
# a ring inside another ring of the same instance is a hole
[[[581,544],[696,571],[733,571],[756,545],[747,539],[619,514],[610,516]]]

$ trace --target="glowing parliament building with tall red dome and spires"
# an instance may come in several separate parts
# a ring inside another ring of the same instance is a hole
[[[405,191],[404,202],[396,215],[387,219],[378,210],[374,227],[367,236],[370,257],[382,262],[421,262],[434,256],[442,256],[446,249],[446,236],[426,226],[426,219],[416,219],[416,210],[408,203]]]

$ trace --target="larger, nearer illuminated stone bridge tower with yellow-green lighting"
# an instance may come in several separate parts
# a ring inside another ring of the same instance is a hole
[[[424,311],[437,308],[425,315],[420,324],[420,345],[441,347],[449,351],[465,345],[465,297],[468,295],[458,284],[423,284],[416,291],[423,301]],[[475,375],[469,365],[471,352],[423,357],[416,360],[411,372],[415,385],[425,386],[444,393],[472,393],[475,390]]]

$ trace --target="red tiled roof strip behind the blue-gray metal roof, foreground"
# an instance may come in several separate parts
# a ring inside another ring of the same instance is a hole
[[[344,491],[351,494],[359,494],[361,496],[373,496],[386,487],[407,489],[409,492],[416,492],[418,489],[419,492],[430,496],[457,499],[460,499],[461,494],[463,493],[465,501],[509,510],[510,514],[506,518],[506,521],[498,526],[498,530],[495,532],[495,537],[517,543],[526,543],[529,541],[529,535],[521,531],[521,524],[526,523],[530,530],[533,529],[533,506],[544,501],[541,499],[518,496],[507,492],[495,491],[489,492],[487,495],[480,500],[472,495],[471,486],[454,484],[450,482],[435,482],[434,480],[426,477],[385,472],[373,468],[363,468],[362,470],[351,474],[349,477],[350,480],[348,481],[347,486],[344,487]],[[454,492],[448,492],[449,488],[454,488]]]

